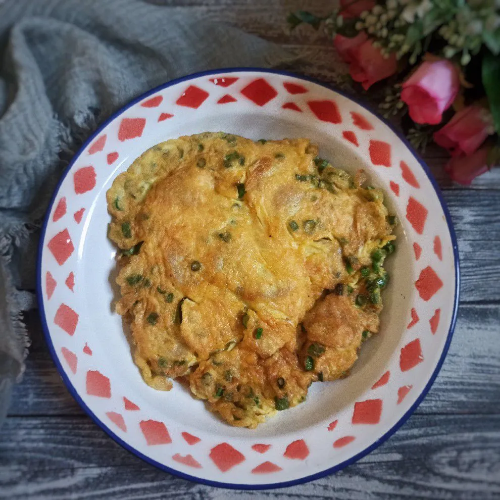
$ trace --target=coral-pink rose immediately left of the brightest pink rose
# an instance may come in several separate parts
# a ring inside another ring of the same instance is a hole
[[[396,56],[391,54],[387,59],[382,56],[380,49],[373,46],[373,41],[368,39],[359,47],[351,51],[351,66],[349,73],[353,80],[360,82],[365,90],[396,72]]]

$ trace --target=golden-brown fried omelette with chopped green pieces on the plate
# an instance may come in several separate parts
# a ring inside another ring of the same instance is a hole
[[[144,381],[255,428],[348,375],[379,331],[396,218],[309,139],[218,132],[153,146],[107,192],[116,311]]]

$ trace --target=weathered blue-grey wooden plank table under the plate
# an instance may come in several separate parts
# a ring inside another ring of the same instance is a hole
[[[280,43],[305,56],[297,71],[342,82],[338,74],[345,67],[322,33],[284,31],[288,11],[326,13],[327,0],[150,1]],[[442,151],[429,148],[424,157],[457,231],[460,311],[434,386],[387,442],[332,476],[292,488],[231,491],[190,483],[129,454],[83,413],[55,369],[36,314],[30,314],[27,370],[0,429],[0,498],[500,498],[500,169],[464,188],[446,179]]]

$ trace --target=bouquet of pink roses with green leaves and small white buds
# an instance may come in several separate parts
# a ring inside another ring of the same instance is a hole
[[[365,90],[385,80],[384,116],[400,114],[417,148],[446,148],[456,182],[500,163],[500,0],[340,0],[288,23],[323,26]]]

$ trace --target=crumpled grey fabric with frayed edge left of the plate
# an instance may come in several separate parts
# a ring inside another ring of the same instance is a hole
[[[0,423],[24,370],[36,245],[81,141],[138,94],[230,66],[276,66],[281,48],[139,0],[0,1]]]

